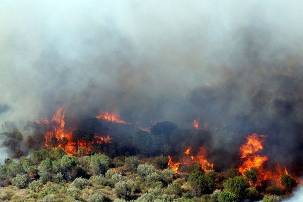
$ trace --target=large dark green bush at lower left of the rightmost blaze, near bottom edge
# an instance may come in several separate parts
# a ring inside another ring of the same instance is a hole
[[[239,199],[245,198],[247,193],[246,188],[249,187],[245,179],[240,176],[227,179],[223,185],[224,190],[234,193]]]

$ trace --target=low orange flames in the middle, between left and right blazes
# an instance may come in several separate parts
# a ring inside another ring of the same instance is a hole
[[[198,152],[196,156],[194,156],[192,153],[192,147],[189,146],[185,149],[183,156],[181,158],[180,162],[174,163],[171,159],[170,156],[168,156],[168,166],[171,167],[176,173],[178,172],[178,168],[181,164],[194,164],[194,163],[199,163],[201,164],[201,169],[204,170],[205,172],[208,172],[210,170],[214,169],[214,164],[210,163],[207,158],[206,158],[206,149],[203,146],[198,147]]]

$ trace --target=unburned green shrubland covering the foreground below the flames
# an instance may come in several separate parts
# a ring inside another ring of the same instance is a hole
[[[60,147],[34,150],[29,158],[6,159],[0,166],[0,200],[277,202],[297,185],[284,175],[282,186],[258,186],[257,169],[240,176],[234,169],[204,172],[193,164],[188,174],[176,174],[167,162],[164,156],[76,157]]]

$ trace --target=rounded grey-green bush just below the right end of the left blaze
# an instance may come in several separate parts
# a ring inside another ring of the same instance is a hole
[[[94,155],[90,158],[89,169],[93,175],[105,174],[109,168],[109,157],[106,155]]]

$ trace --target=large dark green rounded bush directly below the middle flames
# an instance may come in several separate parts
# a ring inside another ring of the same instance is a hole
[[[214,180],[201,171],[194,170],[188,176],[188,182],[191,185],[195,195],[212,193],[215,188]]]

